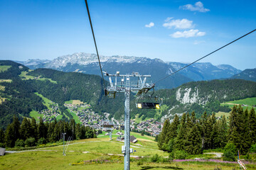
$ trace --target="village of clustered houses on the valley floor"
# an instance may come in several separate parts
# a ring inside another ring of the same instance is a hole
[[[107,128],[104,127],[105,125],[112,125],[112,129],[115,130],[124,129],[124,120],[115,120],[114,118],[109,120],[110,113],[103,113],[103,115],[95,113],[95,111],[92,111],[90,104],[73,100],[65,102],[64,106],[67,107],[68,111],[73,115],[76,123],[81,123],[82,125],[90,126],[95,130],[102,131],[107,131]],[[51,103],[50,108],[39,111],[38,113],[43,118],[44,122],[53,121],[54,118],[57,118],[57,116],[60,115],[58,103]],[[151,136],[159,135],[162,126],[163,124],[161,122],[156,121],[153,118],[140,121],[139,123],[135,120],[131,120],[131,130],[148,132]]]

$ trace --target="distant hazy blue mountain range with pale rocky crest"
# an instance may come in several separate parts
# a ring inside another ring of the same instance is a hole
[[[147,57],[127,57],[127,56],[100,56],[102,69],[110,74],[119,71],[122,74],[139,72],[140,74],[151,74],[151,81],[157,81],[162,77],[175,72],[186,64],[181,62],[164,62],[160,59],[149,59]],[[16,61],[18,62],[18,61]],[[54,60],[28,60],[18,62],[30,69],[50,68],[63,72],[82,72],[86,74],[100,75],[100,68],[97,55],[89,53],[75,53],[64,55]],[[157,89],[171,89],[189,81],[201,81],[211,79],[230,78],[239,74],[240,69],[221,64],[214,66],[210,62],[196,63],[174,74],[169,79],[157,84]]]

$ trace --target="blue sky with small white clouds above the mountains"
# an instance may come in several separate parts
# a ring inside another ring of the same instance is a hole
[[[88,0],[100,55],[193,62],[256,28],[256,1]],[[0,59],[95,53],[85,1],[0,0]],[[201,62],[256,67],[256,33]]]

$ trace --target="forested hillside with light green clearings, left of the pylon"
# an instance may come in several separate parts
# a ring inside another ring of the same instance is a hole
[[[58,103],[61,113],[65,113],[64,120],[73,118],[63,106],[64,101],[78,99],[96,106],[103,95],[99,76],[53,69],[28,72],[27,67],[11,61],[1,61],[0,66],[8,66],[8,69],[0,72],[0,128],[6,128],[14,115],[22,120],[23,116],[30,118],[31,111],[46,109],[36,92]],[[29,79],[21,76],[23,72]]]

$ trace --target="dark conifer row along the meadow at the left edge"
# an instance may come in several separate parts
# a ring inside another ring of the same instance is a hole
[[[13,122],[6,130],[0,129],[0,147],[33,147],[47,142],[57,142],[63,140],[63,133],[66,133],[65,140],[68,140],[68,137],[72,140],[97,137],[95,130],[76,124],[74,119],[70,122],[55,119],[51,123],[43,123],[43,119],[40,118],[36,123],[35,118],[23,118],[20,123],[14,116]]]

